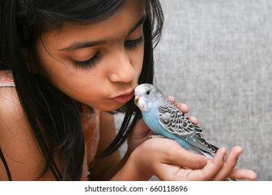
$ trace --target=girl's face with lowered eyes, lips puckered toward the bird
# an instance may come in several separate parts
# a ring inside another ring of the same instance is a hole
[[[74,100],[104,111],[134,95],[143,65],[142,1],[96,24],[64,24],[36,43],[38,73]]]

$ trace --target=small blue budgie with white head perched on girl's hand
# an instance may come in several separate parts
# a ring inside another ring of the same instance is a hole
[[[194,125],[156,86],[137,86],[134,102],[141,109],[145,124],[157,136],[176,140],[182,148],[192,153],[215,156],[217,146],[206,141],[201,136],[201,128]]]

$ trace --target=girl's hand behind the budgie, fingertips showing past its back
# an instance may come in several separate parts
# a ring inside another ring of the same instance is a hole
[[[182,113],[186,114],[189,112],[189,107],[187,104],[183,104],[181,102],[176,102],[175,98],[173,98],[170,95],[166,95],[173,104],[182,111]],[[194,116],[188,116],[190,120],[192,120],[192,123],[197,124],[198,121]],[[145,125],[145,122],[143,121],[143,118],[141,120],[138,120],[136,123],[134,130],[129,134],[129,137],[127,139],[127,145],[128,145],[128,151],[131,153],[135,148],[137,148],[143,141],[147,140],[150,135],[154,134],[148,126]]]

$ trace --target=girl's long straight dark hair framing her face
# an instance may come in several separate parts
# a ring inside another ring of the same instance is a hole
[[[138,0],[137,0],[138,1]],[[48,169],[56,180],[80,180],[85,144],[78,109],[72,100],[27,68],[22,48],[31,51],[38,38],[64,22],[99,22],[120,10],[127,0],[1,0],[0,70],[11,69],[20,102],[38,146],[45,157],[40,177]],[[153,80],[153,47],[162,31],[158,0],[146,0],[143,31],[145,54],[139,84]],[[117,137],[105,154],[113,153],[127,139],[140,112],[129,101]],[[56,162],[57,161],[57,162]],[[62,164],[62,167],[57,164]]]

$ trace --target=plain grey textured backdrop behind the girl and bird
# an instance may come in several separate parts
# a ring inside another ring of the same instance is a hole
[[[205,138],[243,146],[238,167],[272,180],[272,1],[164,0],[155,84],[190,107]]]

